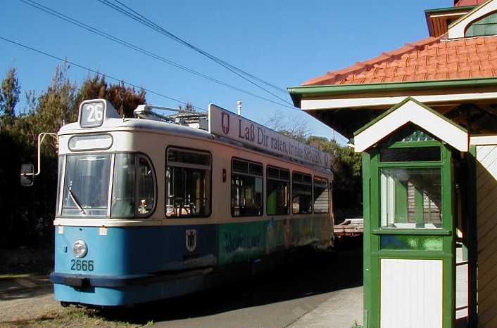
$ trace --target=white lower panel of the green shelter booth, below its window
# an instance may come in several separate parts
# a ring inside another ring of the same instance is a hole
[[[381,260],[382,328],[442,328],[442,260]]]

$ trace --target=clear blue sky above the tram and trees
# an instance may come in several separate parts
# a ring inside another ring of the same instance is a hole
[[[176,63],[272,98],[199,53],[99,1],[37,1]],[[282,88],[423,39],[428,36],[424,9],[453,5],[452,0],[121,1],[191,44]],[[333,136],[331,129],[308,114],[196,77],[17,0],[2,3],[0,37],[202,108],[215,103],[235,111],[237,100],[242,100],[244,116],[256,122],[267,122],[279,112],[303,120],[313,134]],[[0,53],[0,76],[16,67],[23,93],[45,90],[59,63],[1,39]],[[80,83],[85,76],[84,70],[70,68],[71,79]],[[291,101],[288,94],[276,93]],[[151,93],[147,102],[178,105]],[[336,140],[344,142],[338,135]]]

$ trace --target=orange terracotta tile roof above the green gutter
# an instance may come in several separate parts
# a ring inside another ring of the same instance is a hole
[[[429,37],[303,83],[368,84],[497,77],[497,37]]]

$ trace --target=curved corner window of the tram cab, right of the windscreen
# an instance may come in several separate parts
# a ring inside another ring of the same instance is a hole
[[[111,216],[148,216],[153,211],[155,197],[155,179],[149,160],[139,154],[116,154]]]

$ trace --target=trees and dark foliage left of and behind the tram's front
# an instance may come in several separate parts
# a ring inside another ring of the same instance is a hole
[[[51,139],[42,145],[42,173],[30,188],[21,187],[20,165],[36,166],[37,137],[41,132],[56,133],[63,124],[76,122],[82,100],[106,98],[125,116],[145,103],[145,91],[106,84],[99,75],[88,77],[80,88],[68,78],[69,66],[58,65],[51,84],[36,96],[26,93],[27,110],[15,114],[20,85],[15,68],[8,70],[0,91],[0,247],[37,244],[50,240],[56,208],[57,148]],[[48,141],[48,142],[47,142]],[[6,158],[6,160],[4,160]]]

